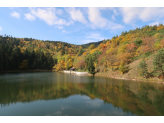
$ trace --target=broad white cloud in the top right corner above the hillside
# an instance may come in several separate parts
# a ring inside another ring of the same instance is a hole
[[[138,19],[151,21],[164,17],[163,7],[122,7],[120,12],[126,24],[132,24]]]

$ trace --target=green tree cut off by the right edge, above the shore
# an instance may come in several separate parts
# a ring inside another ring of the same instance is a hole
[[[158,72],[158,75],[164,76],[164,49],[157,52],[153,59],[154,70]]]

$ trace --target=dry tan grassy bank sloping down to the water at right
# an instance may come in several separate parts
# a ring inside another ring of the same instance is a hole
[[[153,73],[153,59],[155,54],[151,54],[146,58],[146,63],[148,65],[148,72]],[[164,83],[164,80],[159,79],[157,76],[151,76],[149,78],[143,78],[138,74],[137,66],[142,59],[135,60],[128,64],[129,70],[121,74],[119,70],[112,71],[112,69],[107,68],[106,72],[101,71],[95,74],[95,76],[110,77],[116,79],[125,79],[125,80],[135,80],[135,81],[144,81],[144,82],[154,82],[154,83]]]

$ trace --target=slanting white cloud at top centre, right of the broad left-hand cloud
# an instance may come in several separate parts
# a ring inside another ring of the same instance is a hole
[[[71,8],[66,8],[65,10],[71,15],[71,18],[74,21],[79,21],[83,24],[87,23],[85,17],[83,16],[83,13],[79,9],[76,9],[75,7],[71,7]]]

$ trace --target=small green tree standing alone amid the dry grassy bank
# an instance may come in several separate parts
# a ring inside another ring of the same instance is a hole
[[[148,74],[148,69],[147,69],[147,64],[145,62],[145,59],[143,59],[139,65],[138,65],[138,72],[140,76],[144,76],[145,78],[147,77]]]

